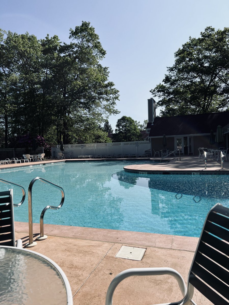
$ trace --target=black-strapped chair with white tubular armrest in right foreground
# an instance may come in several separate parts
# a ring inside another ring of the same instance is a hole
[[[119,273],[107,290],[106,305],[112,304],[117,285],[135,275],[170,274],[179,284],[184,298],[172,304],[196,304],[191,298],[194,288],[213,304],[226,305],[229,300],[229,208],[217,203],[209,211],[202,229],[196,252],[188,274],[187,288],[181,275],[172,268],[132,268]],[[161,280],[161,279],[160,279]],[[222,297],[223,296],[223,297]],[[224,300],[224,298],[227,300]],[[143,303],[141,303],[143,304]],[[168,303],[167,303],[168,304]],[[169,303],[170,304],[170,303]]]

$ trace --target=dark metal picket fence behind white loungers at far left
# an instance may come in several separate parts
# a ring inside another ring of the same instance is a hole
[[[0,160],[5,160],[7,158],[22,158],[22,155],[25,154],[37,155],[43,152],[43,147],[38,147],[36,150],[33,150],[32,148],[1,148]]]

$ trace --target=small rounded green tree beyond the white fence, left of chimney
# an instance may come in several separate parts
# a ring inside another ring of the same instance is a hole
[[[115,141],[117,142],[140,141],[142,137],[137,122],[126,116],[117,120],[115,133]]]

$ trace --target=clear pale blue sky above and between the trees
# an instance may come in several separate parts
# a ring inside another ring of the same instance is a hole
[[[69,29],[89,21],[107,51],[102,64],[120,91],[121,113],[109,119],[115,129],[123,115],[143,123],[149,91],[173,65],[174,52],[207,26],[229,27],[228,16],[228,0],[1,0],[0,28],[68,42]]]

